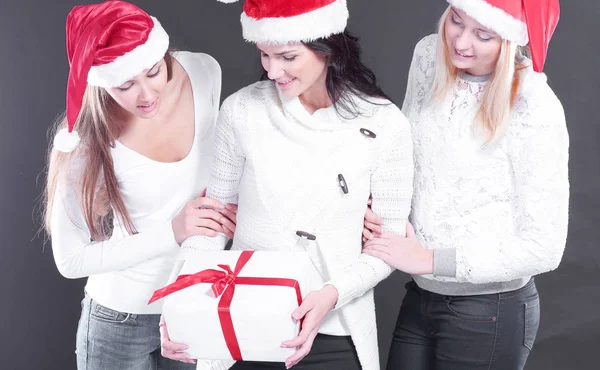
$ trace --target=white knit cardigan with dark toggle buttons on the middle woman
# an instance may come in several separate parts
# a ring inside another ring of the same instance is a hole
[[[334,107],[309,114],[271,81],[240,90],[221,107],[207,193],[227,203],[239,199],[232,249],[309,253],[324,284],[339,292],[327,319],[340,315],[364,370],[379,369],[372,289],[391,272],[383,261],[361,253],[367,201],[372,194],[386,231],[403,233],[413,181],[408,121],[389,101],[371,100],[377,104],[356,99],[363,115],[346,120]],[[181,259],[224,244],[224,236],[191,237],[182,244]],[[231,365],[200,362],[199,368]]]

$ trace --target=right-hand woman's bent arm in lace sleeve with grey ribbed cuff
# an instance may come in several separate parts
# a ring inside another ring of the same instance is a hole
[[[537,275],[558,267],[568,224],[568,146],[564,112],[555,96],[527,102],[524,122],[508,132],[513,166],[514,229],[502,240],[482,235],[457,249],[435,250],[434,274],[487,283]],[[481,248],[486,245],[486,248]]]

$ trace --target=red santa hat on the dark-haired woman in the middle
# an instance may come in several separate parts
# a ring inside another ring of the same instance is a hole
[[[346,0],[246,0],[241,22],[249,42],[309,42],[344,32],[348,6]]]

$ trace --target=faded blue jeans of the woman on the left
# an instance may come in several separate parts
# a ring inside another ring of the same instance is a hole
[[[194,370],[160,354],[160,315],[104,307],[87,294],[77,328],[78,370]]]

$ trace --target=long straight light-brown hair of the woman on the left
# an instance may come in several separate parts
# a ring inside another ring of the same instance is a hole
[[[165,62],[167,81],[170,81],[173,74],[170,51],[165,54]],[[43,223],[48,234],[51,233],[52,206],[59,182],[64,186],[75,186],[75,194],[92,240],[108,239],[115,217],[119,218],[130,235],[136,233],[121,196],[110,153],[122,128],[115,114],[118,109],[118,104],[105,89],[88,85],[75,122],[75,129],[81,138],[79,145],[71,153],[60,152],[52,146],[48,150],[43,196]],[[58,131],[66,127],[67,120],[63,115],[51,128],[50,138],[53,139]],[[77,166],[76,171],[73,171],[73,165]]]

